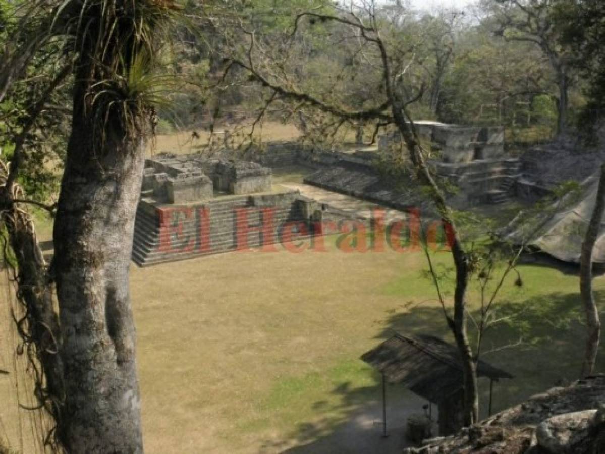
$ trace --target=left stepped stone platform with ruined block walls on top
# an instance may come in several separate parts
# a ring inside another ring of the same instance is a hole
[[[272,192],[260,164],[160,154],[146,160],[132,259],[151,265],[308,235],[307,205],[296,191]]]

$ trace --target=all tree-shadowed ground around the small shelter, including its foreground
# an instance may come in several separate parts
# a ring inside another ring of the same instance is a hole
[[[605,299],[605,291],[597,291],[597,301]],[[499,307],[499,317],[506,322],[486,332],[482,359],[514,375],[494,386],[493,410],[497,412],[518,404],[533,394],[552,386],[570,383],[578,378],[584,351],[583,311],[577,293],[551,293],[508,302]],[[408,313],[393,313],[387,317],[384,330],[376,343],[393,332],[427,333],[452,342],[438,307],[416,307]],[[522,339],[521,345],[514,345]],[[492,352],[489,352],[492,351]],[[363,354],[364,352],[359,352]],[[361,360],[360,360],[361,361]],[[600,349],[597,371],[603,371],[605,352]],[[388,386],[388,421],[390,437],[381,437],[382,401],[381,377],[373,372],[372,383],[353,388],[342,381],[332,390],[340,397],[337,407],[325,401],[313,403],[322,417],[312,423],[299,424],[283,443],[268,442],[263,452],[361,453],[401,452],[405,446],[405,418],[422,412],[421,398],[403,386]],[[480,380],[480,417],[488,415],[488,380]],[[338,416],[335,416],[335,413]],[[289,449],[286,449],[289,446]]]

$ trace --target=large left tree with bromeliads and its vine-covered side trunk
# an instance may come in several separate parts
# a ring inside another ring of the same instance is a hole
[[[39,261],[35,236],[16,216],[22,201],[14,190],[22,170],[22,142],[15,144],[1,188],[2,221],[18,259],[19,296],[28,314],[20,326],[45,372],[38,394],[67,452],[140,453],[128,268],[146,141],[166,82],[157,75],[157,56],[180,5],[171,0],[36,1],[21,2],[15,14],[36,27],[28,39],[8,36],[4,43],[8,65],[0,70],[0,102],[39,54],[64,62],[49,91],[73,75],[71,131],[50,269]],[[22,31],[17,27],[14,33]],[[23,136],[46,103],[42,97],[28,111]]]

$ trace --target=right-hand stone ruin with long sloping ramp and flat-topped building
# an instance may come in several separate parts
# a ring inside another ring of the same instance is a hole
[[[457,209],[479,204],[505,202],[515,192],[519,161],[504,149],[502,128],[416,122],[421,140],[437,155],[429,162],[437,175],[457,186],[450,203]],[[399,146],[398,132],[379,139],[378,151],[384,155]],[[307,177],[305,183],[368,199],[399,210],[425,205],[416,187],[396,187],[376,169],[375,153],[341,154],[337,159]]]

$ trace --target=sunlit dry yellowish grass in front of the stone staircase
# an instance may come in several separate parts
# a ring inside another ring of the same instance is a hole
[[[416,257],[230,253],[133,269],[148,452],[259,452],[336,408],[313,409],[335,381],[373,383],[357,358],[401,305],[382,289],[402,260]]]

